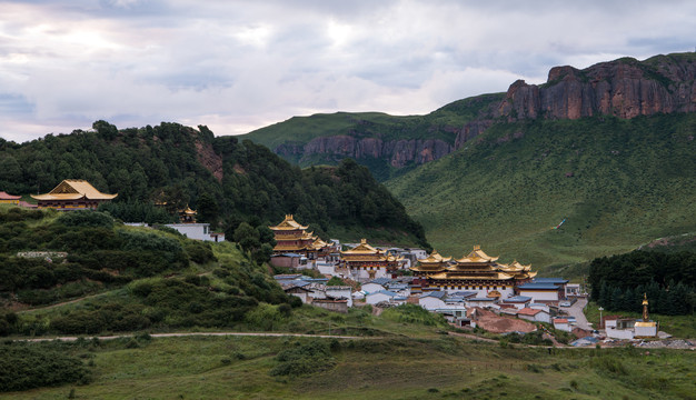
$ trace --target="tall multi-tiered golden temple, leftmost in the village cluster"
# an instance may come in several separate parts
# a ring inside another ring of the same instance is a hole
[[[282,222],[268,228],[274,231],[276,239],[274,254],[301,254],[314,260],[332,249],[332,246],[314,236],[314,232],[307,232],[308,227],[295,221],[292,214],[285,216]]]

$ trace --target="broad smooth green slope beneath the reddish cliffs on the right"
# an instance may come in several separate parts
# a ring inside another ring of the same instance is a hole
[[[575,263],[696,231],[694,132],[693,113],[499,123],[386,184],[441,253]]]

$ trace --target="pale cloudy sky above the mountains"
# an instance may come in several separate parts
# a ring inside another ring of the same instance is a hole
[[[428,113],[624,56],[694,51],[696,1],[0,0],[0,137]]]

